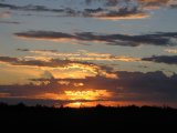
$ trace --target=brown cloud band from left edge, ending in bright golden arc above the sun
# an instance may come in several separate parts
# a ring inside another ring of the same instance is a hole
[[[22,59],[22,58],[11,58],[11,57],[0,57],[0,62],[6,62],[10,65],[18,66],[32,66],[32,68],[52,68],[62,70],[73,70],[77,69],[83,73],[102,75],[107,78],[117,79],[116,74],[112,71],[112,68],[105,65],[98,65],[90,62],[72,61],[72,60],[61,60],[61,59],[49,59],[49,60],[37,60],[37,59]],[[75,75],[76,76],[76,75]]]

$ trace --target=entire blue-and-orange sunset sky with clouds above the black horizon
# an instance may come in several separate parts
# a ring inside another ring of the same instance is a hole
[[[0,0],[0,102],[177,108],[177,0]]]

